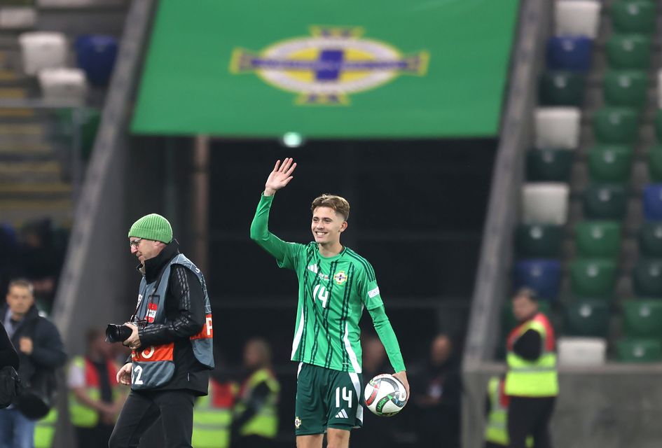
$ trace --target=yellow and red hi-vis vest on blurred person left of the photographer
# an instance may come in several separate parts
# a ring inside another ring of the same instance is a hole
[[[111,360],[107,363],[108,376],[113,391],[113,401],[117,398],[117,370],[118,367]],[[76,356],[71,360],[71,365],[85,372],[85,395],[92,398],[92,400],[101,399],[101,390],[99,389],[99,374],[94,365],[90,361],[83,358],[83,356]],[[86,405],[83,405],[74,392],[69,392],[69,417],[71,424],[81,428],[93,428],[99,423],[99,412]]]

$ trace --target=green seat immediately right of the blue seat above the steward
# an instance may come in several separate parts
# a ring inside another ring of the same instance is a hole
[[[616,262],[600,258],[579,258],[570,262],[570,290],[575,297],[604,298],[614,295]]]

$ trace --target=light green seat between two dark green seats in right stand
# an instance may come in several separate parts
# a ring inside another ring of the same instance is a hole
[[[621,251],[621,225],[616,221],[581,221],[574,226],[579,257],[616,258]]]

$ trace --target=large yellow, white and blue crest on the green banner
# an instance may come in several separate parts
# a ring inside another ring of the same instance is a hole
[[[427,73],[426,51],[404,55],[392,45],[361,37],[361,28],[313,26],[310,32],[260,52],[235,48],[230,71],[256,73],[266,83],[298,94],[296,104],[302,105],[346,105],[348,94],[400,75]]]

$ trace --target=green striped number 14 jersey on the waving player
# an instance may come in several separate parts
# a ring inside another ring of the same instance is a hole
[[[267,231],[273,197],[262,197],[251,232],[280,267],[298,277],[298,307],[291,359],[344,372],[361,372],[359,320],[364,308],[382,306],[375,272],[350,248],[326,258],[317,244],[287,243]]]

